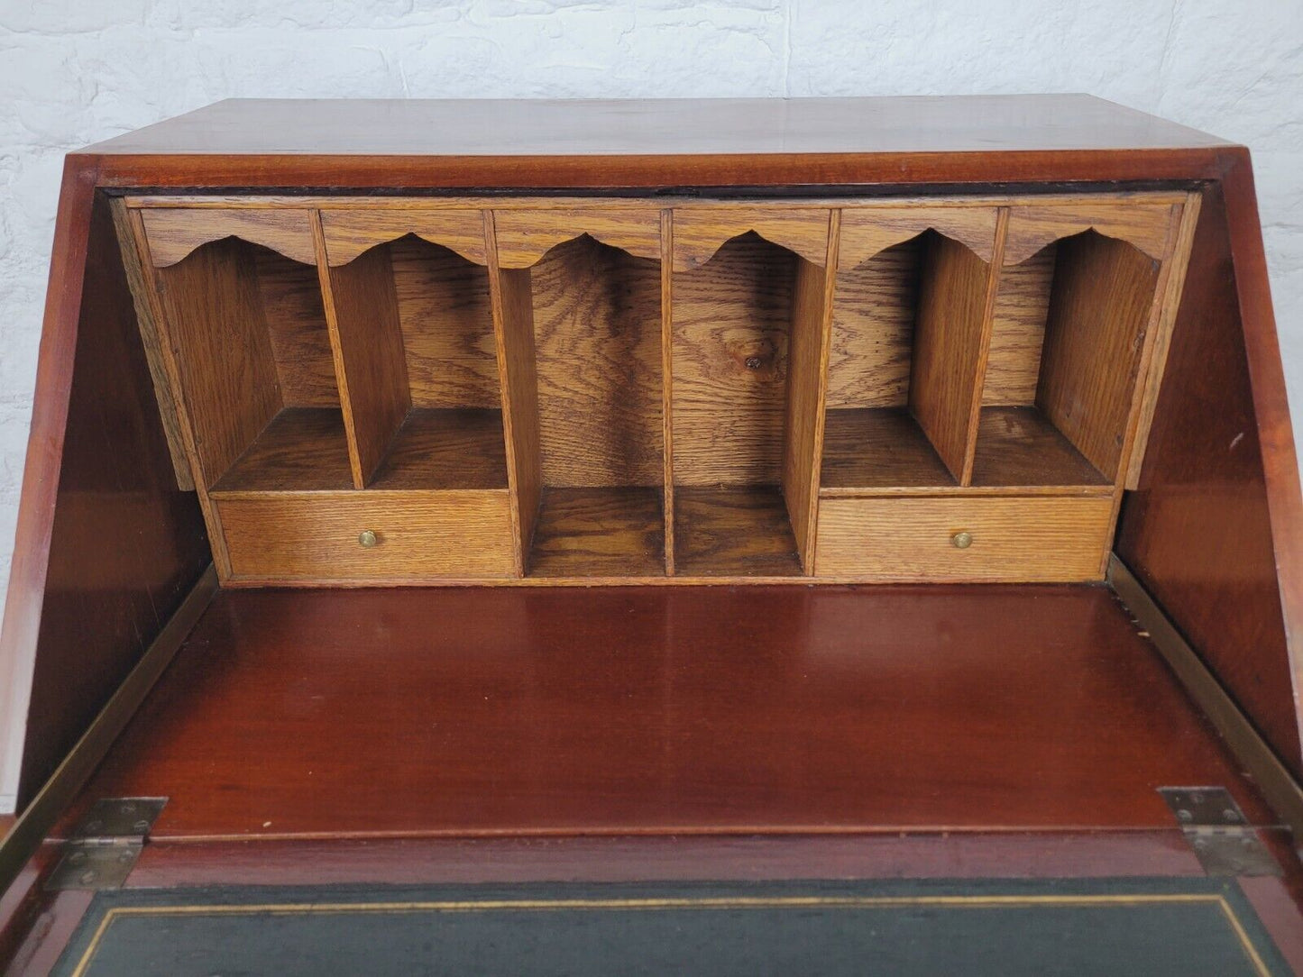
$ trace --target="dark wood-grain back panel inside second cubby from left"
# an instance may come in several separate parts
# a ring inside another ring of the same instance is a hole
[[[412,406],[500,408],[489,270],[414,237],[388,253]]]

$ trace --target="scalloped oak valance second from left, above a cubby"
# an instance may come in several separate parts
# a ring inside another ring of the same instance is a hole
[[[321,211],[330,264],[348,264],[375,245],[414,234],[448,248],[466,261],[487,264],[483,215],[463,210],[328,210]]]

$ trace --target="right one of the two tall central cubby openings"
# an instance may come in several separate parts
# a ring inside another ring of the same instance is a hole
[[[805,465],[792,457],[790,413],[796,387],[800,403],[816,403],[823,274],[748,232],[674,275],[674,546],[681,576],[803,572],[792,511],[808,530],[808,492],[796,483],[813,457]],[[816,354],[794,357],[794,348]]]

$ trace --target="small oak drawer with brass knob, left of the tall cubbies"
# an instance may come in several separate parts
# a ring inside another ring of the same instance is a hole
[[[506,491],[278,492],[216,509],[236,580],[516,574]]]

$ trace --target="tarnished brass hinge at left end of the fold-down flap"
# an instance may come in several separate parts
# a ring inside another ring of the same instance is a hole
[[[103,797],[73,828],[46,888],[121,888],[167,797]]]

